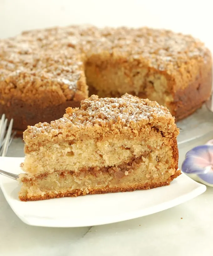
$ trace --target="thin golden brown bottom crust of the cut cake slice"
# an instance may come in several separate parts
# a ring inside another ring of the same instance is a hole
[[[174,175],[170,176],[169,179],[165,182],[149,182],[143,185],[135,185],[135,186],[129,186],[129,187],[122,187],[122,188],[98,188],[98,189],[91,189],[89,190],[88,194],[105,194],[105,193],[116,193],[116,192],[127,192],[127,191],[135,191],[135,190],[145,190],[145,189],[152,189],[152,188],[158,188],[162,186],[168,186],[170,182],[178,177],[181,174],[180,170],[177,170]],[[85,192],[81,191],[80,189],[77,190],[70,190],[65,193],[46,193],[44,196],[21,196],[19,195],[19,199],[21,201],[37,201],[37,200],[45,200],[45,199],[53,199],[53,198],[60,198],[60,197],[77,197],[86,195]]]

